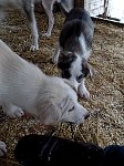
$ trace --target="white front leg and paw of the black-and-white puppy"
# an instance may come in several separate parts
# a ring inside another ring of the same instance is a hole
[[[78,93],[81,97],[85,97],[86,100],[90,97],[90,93],[85,87],[85,79],[83,79],[79,85]]]

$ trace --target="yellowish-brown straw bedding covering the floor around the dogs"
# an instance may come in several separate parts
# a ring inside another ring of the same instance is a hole
[[[14,13],[14,14],[13,14]],[[0,28],[0,38],[20,56],[38,64],[46,74],[59,75],[51,63],[55,42],[59,37],[63,15],[55,13],[55,24],[50,39],[41,38],[46,29],[45,14],[38,14],[40,50],[30,52],[30,31],[27,19],[18,11],[7,11]],[[80,102],[89,110],[91,116],[74,131],[78,141],[92,142],[101,146],[124,144],[124,29],[108,23],[95,22],[93,53],[90,63],[96,75],[86,80],[91,93],[89,101]],[[18,166],[13,149],[18,139],[30,133],[45,134],[55,128],[54,135],[73,138],[68,124],[43,126],[35,118],[24,116],[11,120],[0,111],[0,139],[8,145],[7,156],[0,158],[1,166]]]

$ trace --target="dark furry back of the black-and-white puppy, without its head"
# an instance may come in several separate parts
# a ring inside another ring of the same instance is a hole
[[[92,48],[94,25],[89,12],[84,9],[72,9],[68,13],[64,27],[60,33],[60,46],[70,52],[80,52],[83,54],[84,49],[79,38],[83,38],[87,50]]]

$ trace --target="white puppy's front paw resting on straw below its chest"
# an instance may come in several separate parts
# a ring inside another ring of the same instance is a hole
[[[21,107],[13,104],[2,104],[3,112],[10,117],[21,117],[24,115]]]

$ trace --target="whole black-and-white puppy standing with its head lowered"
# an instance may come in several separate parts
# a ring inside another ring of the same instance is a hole
[[[62,71],[62,77],[69,79],[75,85],[80,96],[89,98],[90,93],[84,80],[93,75],[93,69],[87,63],[92,51],[94,24],[90,13],[80,8],[66,13],[66,19],[60,33],[53,55],[53,62]]]

